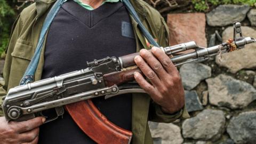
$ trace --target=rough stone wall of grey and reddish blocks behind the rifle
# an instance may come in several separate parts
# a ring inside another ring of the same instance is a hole
[[[244,36],[256,37],[256,10],[247,5],[220,5],[206,14],[169,14],[171,45],[226,42],[233,38],[235,21],[242,23]],[[149,122],[155,143],[256,143],[256,44],[218,59],[179,67],[190,118]]]

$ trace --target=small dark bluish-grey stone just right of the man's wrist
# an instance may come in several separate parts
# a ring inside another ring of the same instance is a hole
[[[203,109],[202,103],[200,102],[196,91],[185,91],[185,99],[188,112]]]

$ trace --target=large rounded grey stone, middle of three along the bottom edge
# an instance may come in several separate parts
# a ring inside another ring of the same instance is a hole
[[[225,122],[223,111],[205,109],[197,116],[183,122],[182,135],[184,138],[215,141],[221,137]]]

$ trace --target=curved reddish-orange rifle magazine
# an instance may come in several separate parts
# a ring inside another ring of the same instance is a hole
[[[66,105],[66,109],[76,124],[97,143],[130,143],[132,132],[108,121],[91,100]]]

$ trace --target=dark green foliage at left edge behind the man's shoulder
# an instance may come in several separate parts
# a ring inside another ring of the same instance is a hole
[[[6,1],[0,0],[0,54],[8,44],[14,14],[14,10]]]

